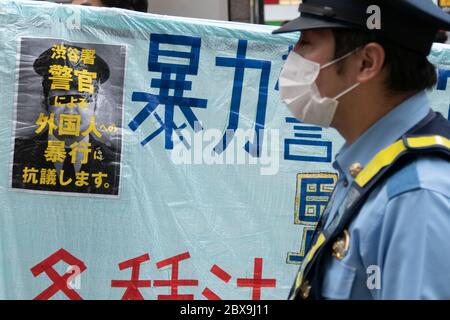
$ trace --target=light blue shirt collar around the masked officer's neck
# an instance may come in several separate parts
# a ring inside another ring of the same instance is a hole
[[[378,120],[353,144],[345,144],[336,156],[333,167],[349,182],[353,181],[349,168],[353,163],[365,167],[381,150],[388,147],[402,135],[423,120],[430,112],[425,91],[405,100]]]

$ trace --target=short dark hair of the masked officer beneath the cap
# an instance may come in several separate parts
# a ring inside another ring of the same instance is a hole
[[[431,89],[437,82],[436,68],[420,53],[403,48],[380,34],[355,29],[332,31],[335,59],[370,42],[379,43],[384,48],[384,67],[389,73],[386,89],[389,93]]]

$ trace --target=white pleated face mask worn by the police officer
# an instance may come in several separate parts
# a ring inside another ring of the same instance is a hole
[[[316,80],[322,69],[349,57],[355,51],[323,66],[291,51],[281,72],[279,84],[281,100],[288,106],[295,118],[304,123],[324,128],[331,125],[339,104],[337,99],[355,89],[360,83],[356,83],[334,98],[327,98],[320,95]]]

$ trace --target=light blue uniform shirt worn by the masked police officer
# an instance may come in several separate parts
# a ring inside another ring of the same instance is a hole
[[[333,164],[339,180],[325,228],[353,182],[349,167],[366,166],[429,111],[421,92],[344,145]],[[326,257],[324,298],[450,299],[450,162],[425,157],[396,172],[371,193],[348,231],[345,258]]]

